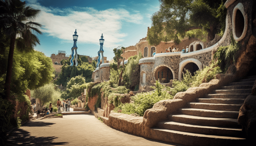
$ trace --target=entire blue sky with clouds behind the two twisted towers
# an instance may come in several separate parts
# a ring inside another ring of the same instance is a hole
[[[24,1],[24,0],[22,0]],[[135,45],[147,35],[151,27],[150,17],[159,10],[158,0],[26,0],[32,8],[41,12],[34,22],[43,26],[38,34],[40,45],[35,50],[58,54],[71,54],[73,36],[77,31],[77,53],[97,56],[99,39],[103,34],[103,55],[114,57],[118,46]]]

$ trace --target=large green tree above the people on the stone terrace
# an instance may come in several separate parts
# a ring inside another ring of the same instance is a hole
[[[174,40],[180,43],[187,31],[202,29],[198,35],[208,32],[207,41],[214,39],[217,26],[224,27],[225,16],[223,3],[225,0],[159,0],[160,10],[151,16],[152,27],[148,31],[147,40],[157,45],[161,41]],[[217,11],[221,11],[221,16]],[[193,33],[190,32],[190,33]]]

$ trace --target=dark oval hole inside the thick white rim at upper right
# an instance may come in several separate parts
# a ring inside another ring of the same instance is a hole
[[[244,31],[244,16],[238,9],[235,15],[235,35],[237,38],[241,37]]]

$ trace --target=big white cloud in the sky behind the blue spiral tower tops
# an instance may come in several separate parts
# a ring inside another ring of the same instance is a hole
[[[131,14],[123,8],[98,11],[94,8],[59,9],[38,4],[30,5],[41,10],[35,22],[44,25],[40,29],[43,33],[70,41],[77,29],[79,42],[93,44],[99,44],[103,34],[105,47],[113,47],[127,36],[120,32],[123,23],[141,24],[143,21],[140,13]]]

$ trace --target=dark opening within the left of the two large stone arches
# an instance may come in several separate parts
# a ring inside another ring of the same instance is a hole
[[[155,71],[155,79],[159,80],[160,83],[169,83],[173,80],[173,74],[170,68],[161,66]]]

